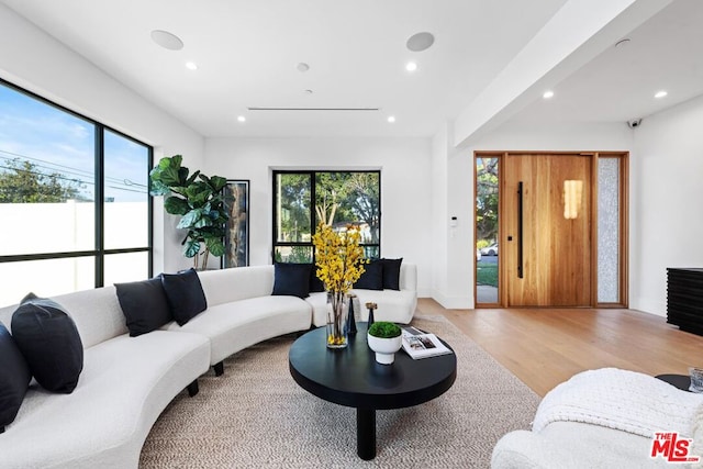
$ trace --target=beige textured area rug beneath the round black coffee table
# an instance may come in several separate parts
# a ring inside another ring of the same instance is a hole
[[[443,316],[416,316],[457,354],[457,380],[427,403],[377,412],[377,457],[356,456],[356,411],[300,388],[294,336],[225,361],[225,373],[181,392],[146,439],[142,468],[488,468],[505,433],[528,428],[539,398]],[[428,358],[432,359],[432,358]]]

